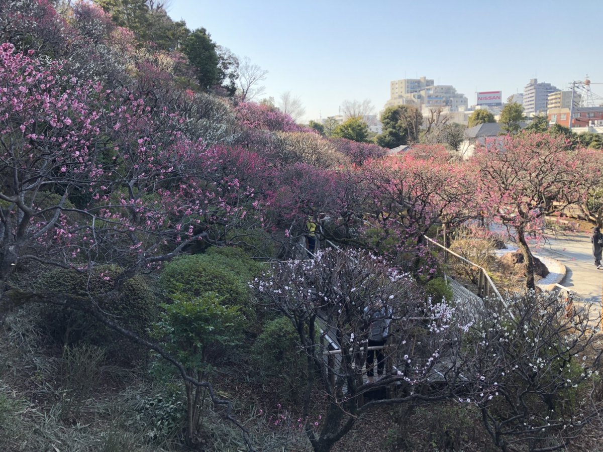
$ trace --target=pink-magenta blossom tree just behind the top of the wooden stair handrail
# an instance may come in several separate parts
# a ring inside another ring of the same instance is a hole
[[[417,245],[434,224],[472,215],[465,169],[450,162],[441,146],[419,146],[415,152],[367,162],[361,177],[368,221],[380,230],[377,247],[395,240],[399,253],[423,254]]]

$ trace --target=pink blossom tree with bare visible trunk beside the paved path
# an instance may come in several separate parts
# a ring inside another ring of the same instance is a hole
[[[519,134],[477,146],[469,162],[478,209],[507,228],[526,262],[526,287],[534,289],[528,240],[542,239],[545,216],[583,202],[601,180],[601,153],[570,151],[563,137]]]

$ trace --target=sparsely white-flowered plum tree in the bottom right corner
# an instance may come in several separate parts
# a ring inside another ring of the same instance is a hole
[[[479,410],[502,451],[566,450],[601,412],[599,315],[575,312],[557,293],[507,305],[463,337],[458,400]]]

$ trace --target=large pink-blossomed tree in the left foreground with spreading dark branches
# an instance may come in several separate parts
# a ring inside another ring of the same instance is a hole
[[[80,271],[119,263],[127,278],[256,210],[238,178],[256,167],[232,165],[242,151],[225,163],[221,149],[177,131],[178,115],[156,120],[127,91],[0,49],[4,284],[28,261]]]

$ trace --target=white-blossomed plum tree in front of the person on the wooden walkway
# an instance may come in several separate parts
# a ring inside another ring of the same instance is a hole
[[[323,425],[320,430],[306,428],[315,451],[330,450],[371,406],[448,397],[447,390],[434,389],[429,395],[417,391],[436,368],[450,385],[459,382],[455,369],[443,359],[462,331],[455,326],[454,309],[444,302],[432,303],[408,274],[380,257],[328,249],[312,260],[280,262],[251,285],[265,306],[289,318],[306,353],[304,416],[311,412],[312,392],[326,392]],[[363,375],[375,316],[391,320],[385,356],[398,367],[370,383]],[[336,354],[327,353],[333,348]],[[400,394],[359,406],[367,391],[391,383],[400,383]]]

